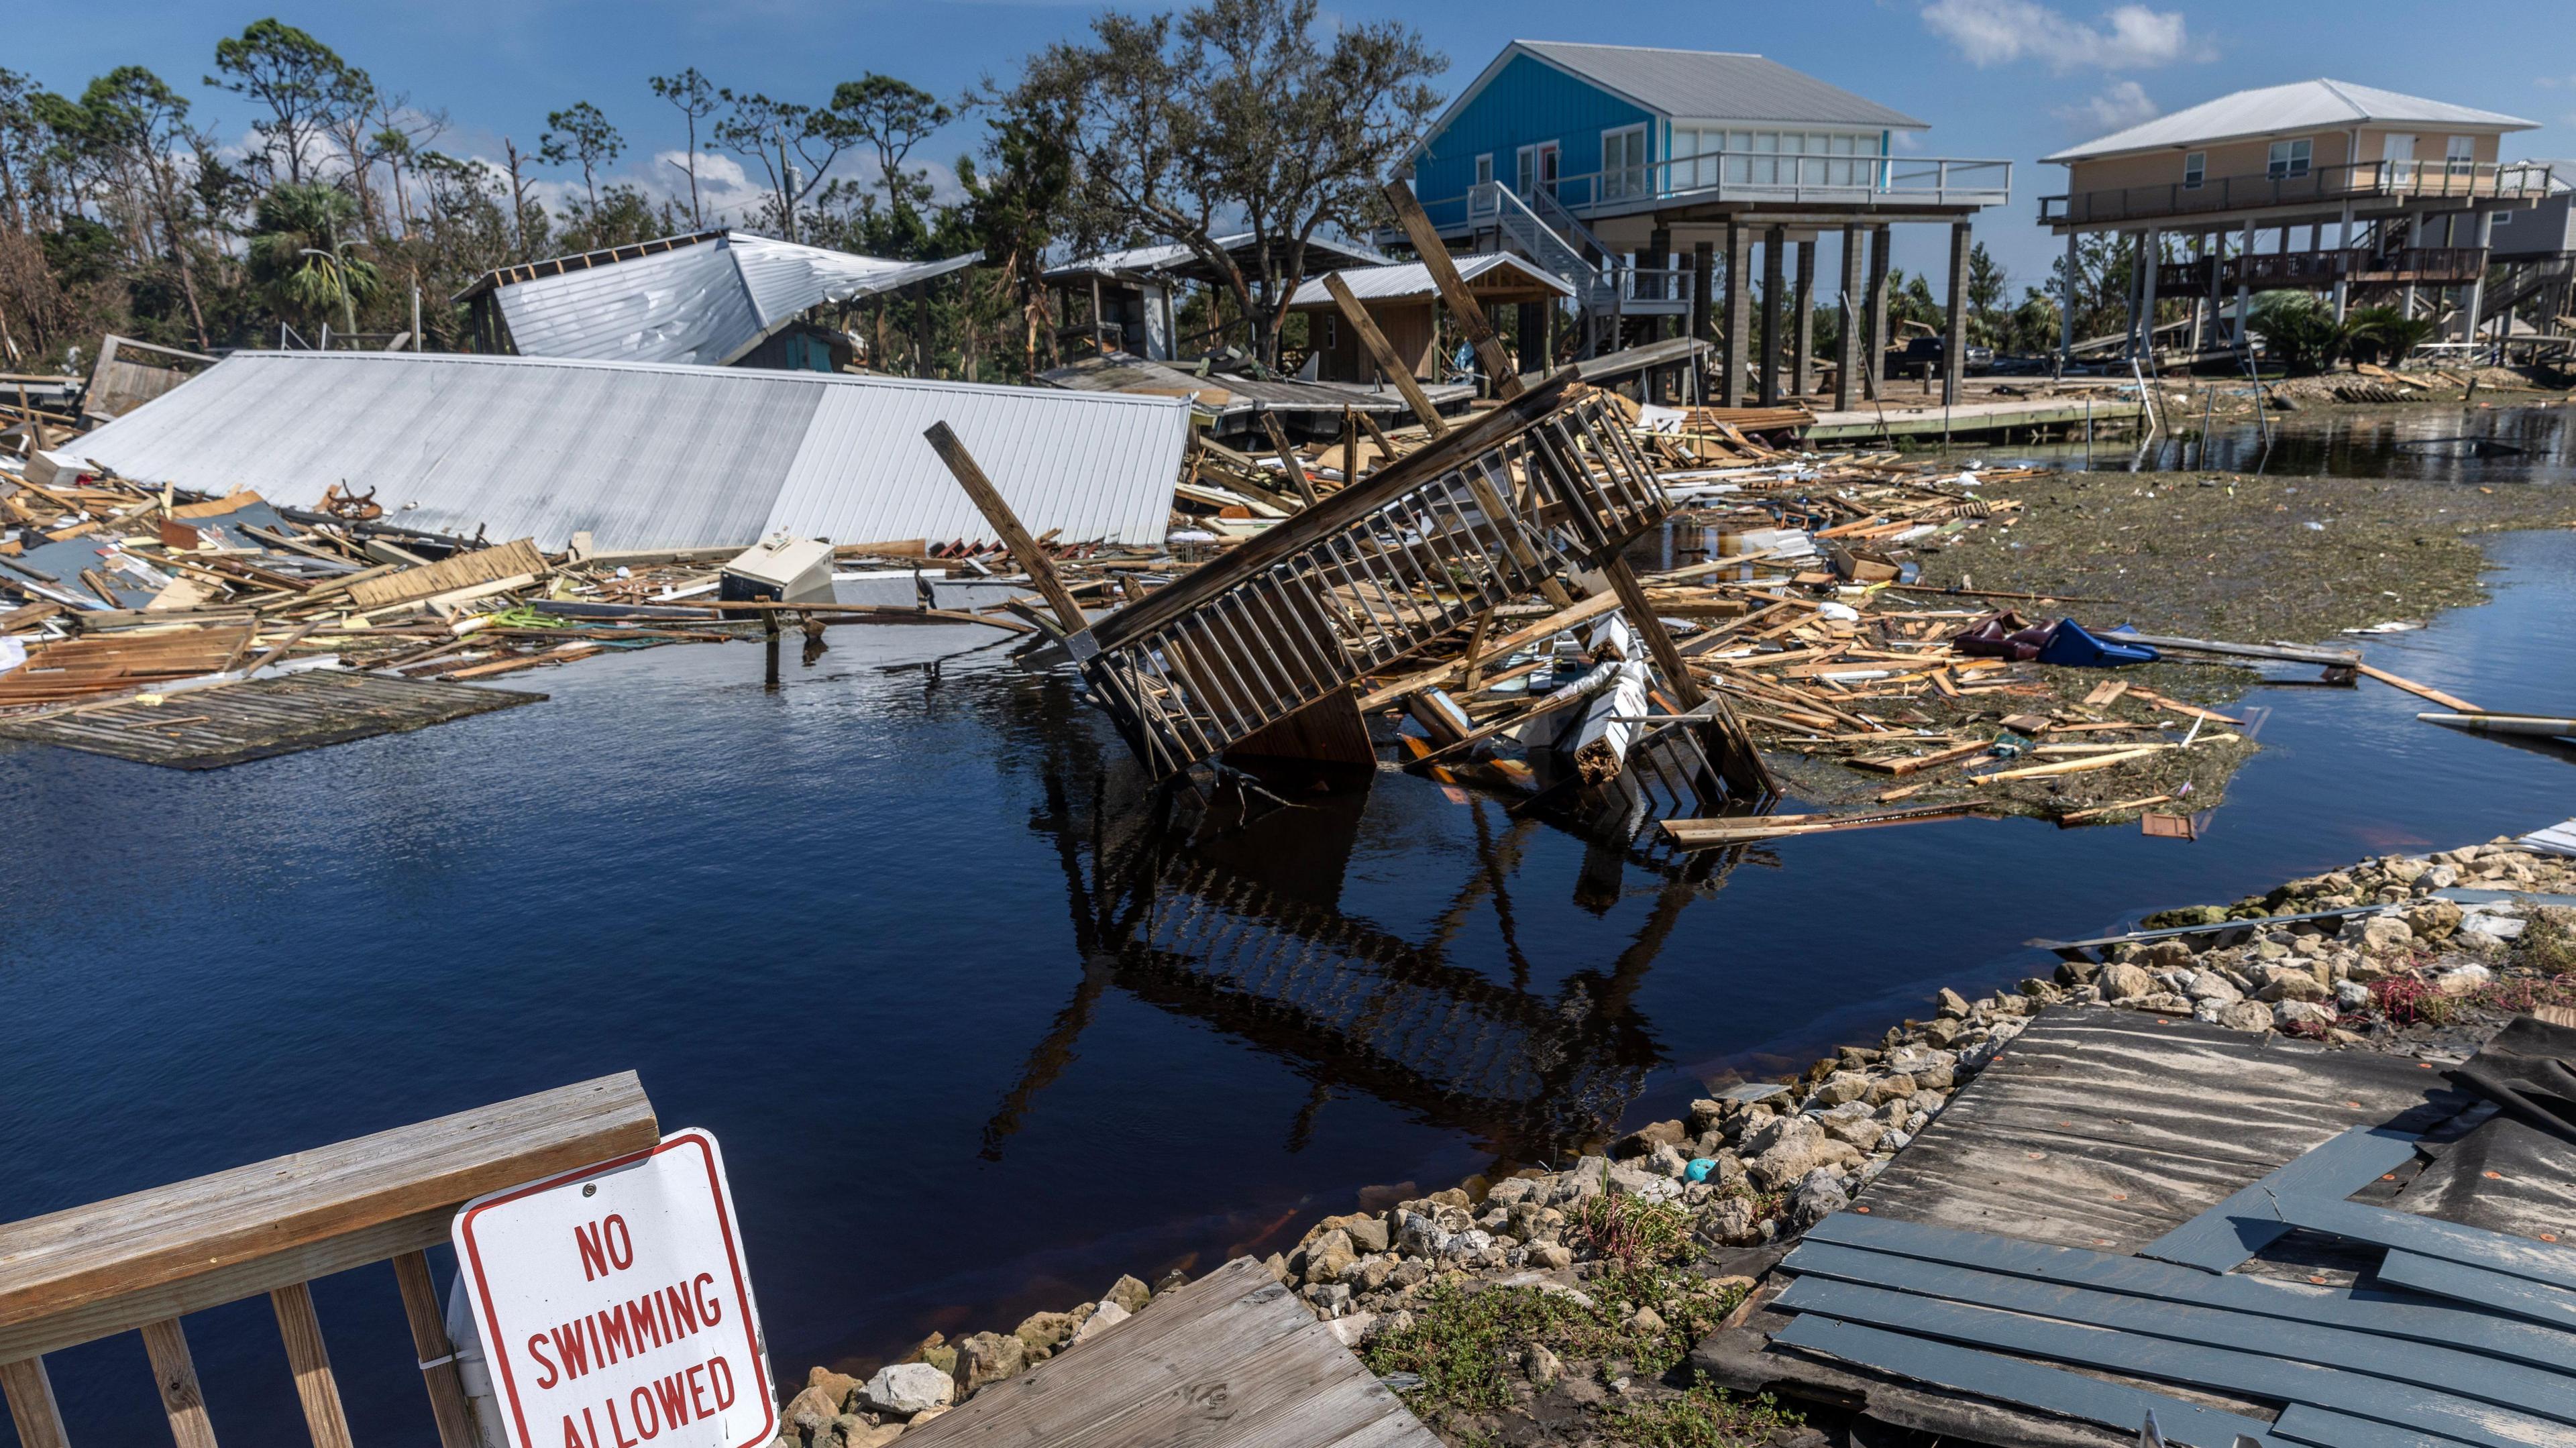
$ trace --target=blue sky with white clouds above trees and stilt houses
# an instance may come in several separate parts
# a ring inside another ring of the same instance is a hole
[[[389,90],[443,108],[440,149],[536,147],[546,111],[590,100],[629,137],[621,173],[683,183],[654,155],[680,149],[680,116],[644,77],[696,64],[719,85],[822,98],[868,70],[956,95],[1007,77],[1041,44],[1082,33],[1084,0],[438,0],[433,5],[180,3],[57,5],[15,26],[0,64],[75,90],[139,62],[198,98],[198,119],[240,137],[250,108],[198,85],[214,41],[260,15],[304,26]],[[2506,160],[2576,157],[2576,44],[2566,0],[2202,3],[2148,0],[1808,0],[1801,5],[1589,0],[1327,0],[1327,23],[1401,15],[1466,85],[1510,39],[1636,41],[1759,52],[1932,124],[1927,155],[2014,160],[2014,201],[1978,237],[2014,294],[2045,278],[2056,245],[2032,222],[2063,178],[2038,157],[2159,111],[2249,85],[2336,77],[2540,121],[2504,139]],[[981,126],[935,137],[920,160],[974,149]],[[577,180],[577,175],[572,178]],[[1932,268],[1932,227],[1899,229],[1899,265]]]

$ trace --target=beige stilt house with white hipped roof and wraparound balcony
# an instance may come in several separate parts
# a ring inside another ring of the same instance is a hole
[[[2221,95],[2143,126],[2069,147],[2066,193],[2040,224],[2066,237],[2063,348],[2074,335],[2074,255],[2084,234],[2130,237],[2128,350],[2154,332],[2156,299],[2190,299],[2190,350],[2244,345],[2257,291],[2388,299],[2450,319],[2465,338],[2499,211],[2550,196],[2545,162],[2504,162],[2509,131],[2535,121],[2347,80],[2300,80]],[[2331,242],[2329,242],[2331,232]],[[2164,260],[2166,242],[2190,252]]]

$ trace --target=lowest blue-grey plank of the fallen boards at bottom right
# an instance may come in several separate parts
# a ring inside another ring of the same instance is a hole
[[[2146,1415],[2154,1412],[2156,1430],[2164,1433],[2166,1443],[2233,1448],[2239,1435],[2267,1448],[2275,1443],[2269,1438],[2272,1425],[2259,1417],[2215,1412],[2177,1396],[2069,1373],[2066,1368],[2048,1368],[2002,1353],[1978,1353],[1976,1348],[1953,1348],[1950,1342],[1886,1332],[1860,1322],[1798,1317],[1772,1342],[2128,1433],[2136,1433],[2146,1422]]]

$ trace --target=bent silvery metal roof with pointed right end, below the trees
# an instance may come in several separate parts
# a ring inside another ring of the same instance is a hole
[[[876,296],[981,258],[902,263],[744,232],[495,286],[531,358],[724,366],[827,301]]]

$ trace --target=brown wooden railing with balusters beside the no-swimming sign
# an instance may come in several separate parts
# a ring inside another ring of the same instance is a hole
[[[23,1448],[67,1448],[44,1355],[142,1332],[178,1448],[214,1448],[180,1317],[268,1293],[314,1448],[348,1415],[309,1281],[394,1262],[443,1448],[477,1448],[422,1250],[469,1198],[659,1139],[634,1072],[0,1224],[0,1389]]]

